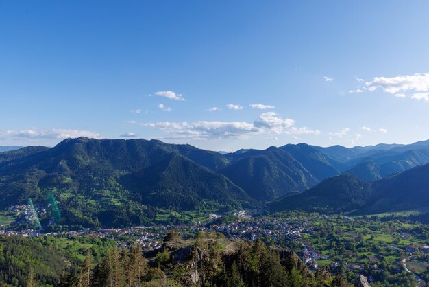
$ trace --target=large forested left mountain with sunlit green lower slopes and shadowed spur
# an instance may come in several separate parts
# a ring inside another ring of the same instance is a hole
[[[225,176],[144,139],[66,139],[0,165],[2,209],[43,202],[49,191],[66,225],[141,225],[154,218],[150,206],[192,209],[203,200],[254,204]]]

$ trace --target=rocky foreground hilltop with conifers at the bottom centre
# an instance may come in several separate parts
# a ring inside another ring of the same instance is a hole
[[[327,269],[313,274],[289,249],[218,237],[186,242],[170,236],[161,249],[146,253],[147,259],[138,245],[115,247],[98,264],[88,254],[60,286],[349,286]]]

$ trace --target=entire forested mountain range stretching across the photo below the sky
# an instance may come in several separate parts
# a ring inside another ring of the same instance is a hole
[[[428,163],[429,141],[354,148],[299,143],[224,153],[81,137],[53,148],[1,152],[0,209],[28,198],[41,202],[51,192],[64,225],[149,224],[158,209],[267,202],[273,210],[386,211],[424,205]]]

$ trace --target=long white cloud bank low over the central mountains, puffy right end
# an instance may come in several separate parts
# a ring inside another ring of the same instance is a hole
[[[247,122],[151,122],[143,123],[141,126],[158,128],[171,135],[171,139],[228,139],[246,138],[249,135],[260,133],[273,133],[285,135],[319,135],[319,130],[293,126],[293,119],[283,119],[273,112],[262,113],[256,121],[251,124]]]

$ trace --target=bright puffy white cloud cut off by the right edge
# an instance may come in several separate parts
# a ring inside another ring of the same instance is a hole
[[[429,73],[415,73],[391,78],[376,77],[371,81],[365,82],[363,87],[351,90],[350,93],[373,92],[378,89],[382,89],[384,93],[395,95],[395,97],[406,97],[407,93],[413,93],[412,99],[429,102]]]

